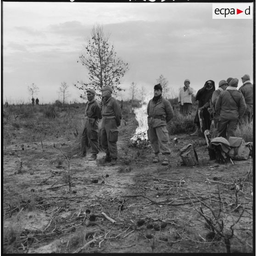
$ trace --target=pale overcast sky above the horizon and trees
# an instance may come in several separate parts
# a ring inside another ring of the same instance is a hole
[[[117,55],[129,63],[123,99],[132,82],[153,91],[162,74],[175,93],[189,78],[197,91],[206,80],[253,75],[253,20],[212,19],[212,3],[3,2],[3,100],[30,101],[28,85],[39,87],[40,103],[59,99],[61,82],[69,100],[73,84],[89,81],[77,63],[95,24],[111,33]]]

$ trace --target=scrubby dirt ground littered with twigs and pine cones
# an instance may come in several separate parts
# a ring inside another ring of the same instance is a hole
[[[252,253],[252,159],[209,161],[205,139],[182,134],[169,136],[168,166],[152,163],[150,147],[130,146],[131,114],[111,166],[103,152],[96,161],[78,156],[73,127],[61,135],[54,122],[37,135],[4,125],[5,253]],[[180,163],[188,143],[194,167]]]

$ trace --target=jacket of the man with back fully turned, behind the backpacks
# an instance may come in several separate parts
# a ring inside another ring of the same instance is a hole
[[[220,93],[215,104],[216,113],[220,115],[219,120],[240,119],[246,110],[245,98],[242,93],[235,87],[234,89],[229,88]]]

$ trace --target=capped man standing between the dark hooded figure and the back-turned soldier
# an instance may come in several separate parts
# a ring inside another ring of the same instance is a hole
[[[211,138],[217,137],[217,123],[218,123],[219,118],[220,118],[220,116],[216,113],[215,104],[216,104],[216,101],[217,101],[220,93],[222,91],[226,90],[227,87],[228,87],[228,81],[221,80],[219,82],[219,88],[216,91],[213,92],[212,97],[211,97],[211,101],[210,101],[211,106],[210,107],[211,107],[211,112],[212,112],[212,115],[213,115],[213,118],[212,118],[212,120],[213,120],[213,130],[211,131],[212,132]]]

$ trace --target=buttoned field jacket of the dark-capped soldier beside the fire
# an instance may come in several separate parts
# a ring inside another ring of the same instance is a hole
[[[166,125],[174,116],[171,103],[163,97],[160,97],[157,103],[153,99],[149,101],[147,114],[148,124],[153,128]]]

